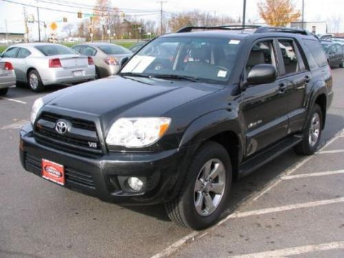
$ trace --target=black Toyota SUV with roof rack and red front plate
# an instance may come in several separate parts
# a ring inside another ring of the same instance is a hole
[[[163,202],[174,222],[205,228],[233,180],[288,149],[314,153],[332,96],[321,44],[304,30],[183,28],[117,76],[36,100],[21,163],[100,200]]]

